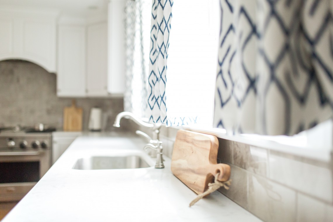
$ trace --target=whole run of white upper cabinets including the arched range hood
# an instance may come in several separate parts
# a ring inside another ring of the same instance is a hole
[[[96,8],[103,11],[93,14],[84,10],[90,3],[81,13],[57,1],[49,4],[0,4],[0,60],[23,59],[56,73],[59,97],[123,96],[126,1],[100,0]]]

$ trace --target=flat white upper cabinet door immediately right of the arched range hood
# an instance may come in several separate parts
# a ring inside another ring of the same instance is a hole
[[[61,25],[58,36],[57,95],[86,96],[85,27]]]

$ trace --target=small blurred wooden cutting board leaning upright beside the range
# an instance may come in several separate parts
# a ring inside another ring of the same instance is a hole
[[[64,131],[82,131],[82,108],[76,107],[75,100],[71,107],[64,108]]]

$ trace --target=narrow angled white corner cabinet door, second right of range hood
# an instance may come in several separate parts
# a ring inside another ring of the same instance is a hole
[[[108,95],[108,26],[107,23],[87,27],[87,96]]]

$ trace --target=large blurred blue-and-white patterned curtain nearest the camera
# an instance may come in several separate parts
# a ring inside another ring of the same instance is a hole
[[[214,126],[293,135],[332,118],[331,0],[220,0]]]

